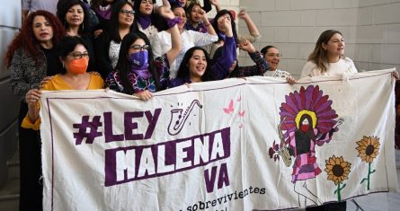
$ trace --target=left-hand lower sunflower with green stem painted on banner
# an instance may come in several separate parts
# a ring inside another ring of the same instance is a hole
[[[326,168],[324,171],[328,173],[328,180],[332,180],[337,189],[334,190],[334,194],[337,193],[338,201],[342,200],[341,190],[346,187],[346,184],[341,184],[344,180],[349,179],[351,163],[345,162],[343,157],[336,157],[334,154],[328,160],[325,161]]]

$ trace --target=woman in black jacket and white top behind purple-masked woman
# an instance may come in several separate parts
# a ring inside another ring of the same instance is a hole
[[[120,1],[112,7],[110,28],[94,40],[95,57],[102,78],[117,66],[121,40],[133,31],[133,5]]]

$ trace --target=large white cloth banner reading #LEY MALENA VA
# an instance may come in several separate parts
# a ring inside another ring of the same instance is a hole
[[[253,210],[396,190],[393,70],[251,77],[140,101],[44,92],[45,210]]]

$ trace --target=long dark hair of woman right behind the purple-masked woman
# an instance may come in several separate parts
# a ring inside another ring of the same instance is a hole
[[[129,4],[133,10],[133,5],[126,1],[119,1],[116,4],[112,5],[112,8],[111,8],[111,18],[110,18],[110,23],[109,23],[110,25],[109,25],[107,33],[110,36],[110,40],[114,40],[117,43],[120,43],[120,41],[122,40],[120,38],[120,23],[118,22],[120,10],[126,4]],[[135,15],[133,17],[135,17]],[[133,21],[135,22],[135,20],[133,20]],[[134,24],[132,24],[130,26],[130,32],[133,31],[133,25]]]

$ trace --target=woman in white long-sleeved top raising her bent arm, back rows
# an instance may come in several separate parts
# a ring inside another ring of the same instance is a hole
[[[184,25],[186,23],[186,13],[183,8],[180,6],[173,7],[173,14],[177,20],[180,20],[178,23],[179,32],[181,33],[182,40],[182,51],[179,56],[175,59],[170,68],[170,78],[175,78],[176,73],[178,71],[179,66],[181,65],[182,58],[189,48],[193,46],[204,46],[208,45],[214,41],[218,40],[218,36],[211,24],[209,24],[209,20],[206,17],[206,13],[202,13],[202,19],[206,24],[208,24],[208,33],[204,34],[198,31],[186,31],[184,29]],[[171,48],[171,31],[161,31],[158,32],[153,40],[153,53],[154,57],[162,56],[168,49]]]

